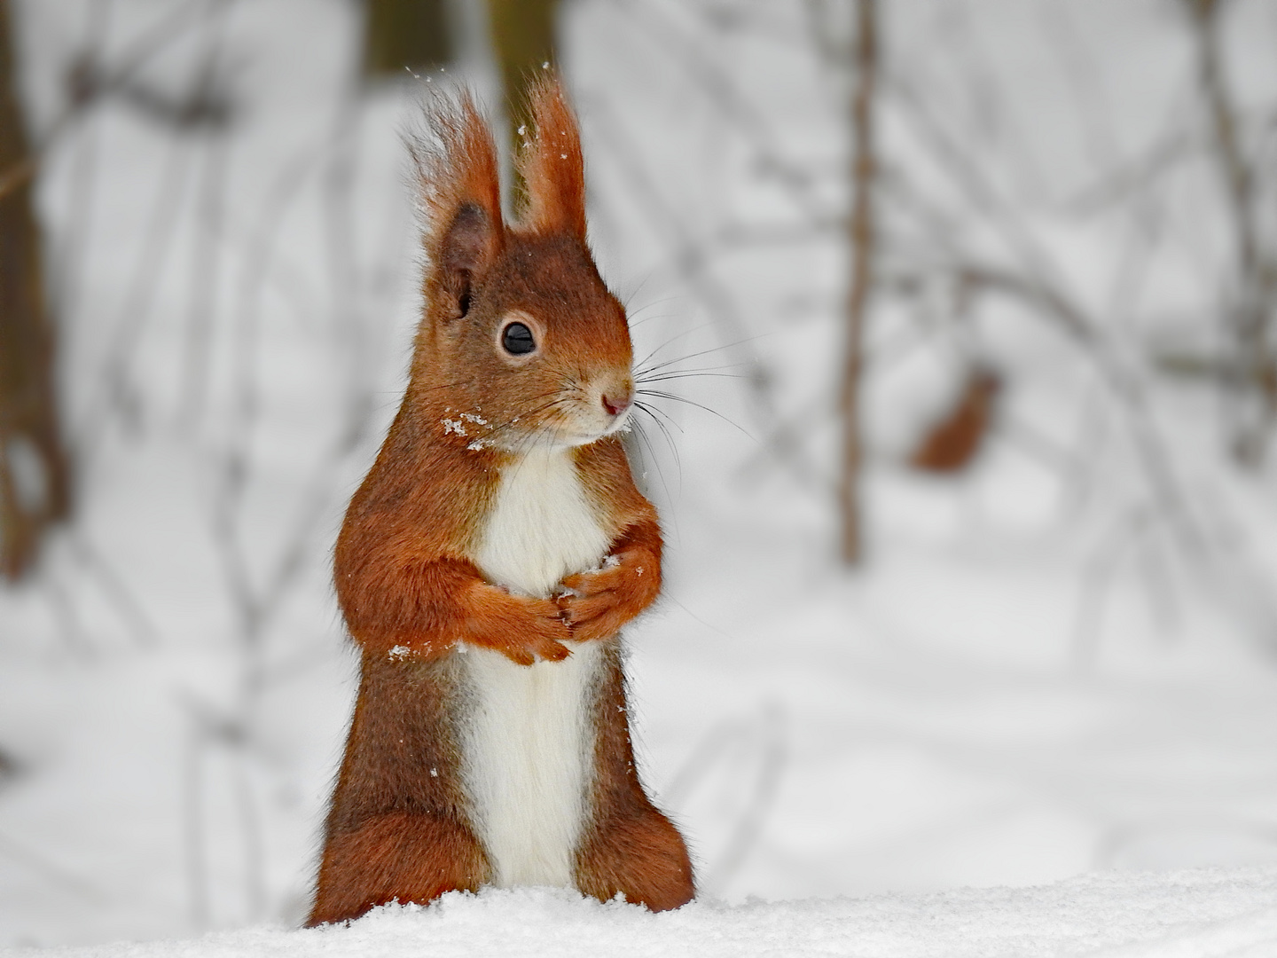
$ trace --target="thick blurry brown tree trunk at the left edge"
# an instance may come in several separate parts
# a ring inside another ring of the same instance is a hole
[[[0,170],[23,169],[28,157],[9,0],[0,0]],[[23,179],[0,197],[0,575],[17,579],[29,567],[41,533],[66,506],[54,333],[31,180]]]

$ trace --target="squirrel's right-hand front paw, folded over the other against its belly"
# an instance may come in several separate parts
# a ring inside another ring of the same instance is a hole
[[[627,549],[608,559],[600,570],[563,580],[558,607],[576,641],[616,635],[660,591],[660,563],[650,551]]]

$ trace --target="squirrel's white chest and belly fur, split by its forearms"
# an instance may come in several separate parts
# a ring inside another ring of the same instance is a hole
[[[598,566],[608,544],[571,452],[539,451],[502,474],[475,561],[493,582],[545,597],[563,576]],[[469,649],[465,780],[498,886],[572,884],[601,660],[599,642],[535,665]]]

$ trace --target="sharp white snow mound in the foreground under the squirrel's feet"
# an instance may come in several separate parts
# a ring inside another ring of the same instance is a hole
[[[349,926],[255,927],[193,941],[59,948],[38,954],[1258,958],[1277,954],[1277,869],[1105,872],[1041,888],[862,899],[693,902],[663,915],[555,889],[488,889],[476,895],[448,894],[429,907],[388,906]]]

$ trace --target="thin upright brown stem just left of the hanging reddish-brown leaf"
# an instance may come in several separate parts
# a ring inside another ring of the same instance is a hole
[[[861,379],[865,365],[865,317],[873,285],[873,93],[877,74],[877,0],[856,0],[857,32],[853,50],[850,212],[847,240],[850,277],[847,286],[847,328],[839,418],[843,457],[838,482],[842,556],[849,566],[865,558],[861,479],[865,436],[861,429]]]

